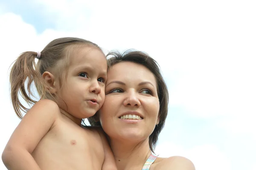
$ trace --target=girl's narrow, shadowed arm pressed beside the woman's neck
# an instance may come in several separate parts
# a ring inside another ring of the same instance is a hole
[[[105,155],[105,159],[102,165],[102,170],[117,170],[115,158],[109,146],[108,139],[107,139],[107,136],[105,135],[105,132],[102,130],[102,128],[97,129],[97,131],[102,139],[104,155]]]

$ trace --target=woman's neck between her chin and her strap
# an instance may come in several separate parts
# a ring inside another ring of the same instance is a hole
[[[141,170],[151,154],[148,138],[139,143],[114,139],[110,140],[110,145],[118,170]]]

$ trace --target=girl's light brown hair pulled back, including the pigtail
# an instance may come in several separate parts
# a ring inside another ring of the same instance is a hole
[[[38,52],[23,52],[14,62],[10,72],[11,84],[11,101],[16,115],[22,119],[22,112],[27,112],[26,108],[19,99],[19,94],[27,104],[35,104],[35,95],[32,92],[33,82],[41,99],[47,98],[53,100],[53,94],[47,88],[47,82],[44,81],[42,75],[46,71],[51,71],[54,67],[58,68],[58,72],[67,72],[69,66],[70,46],[93,46],[100,51],[100,47],[88,40],[76,37],[63,37],[52,40],[40,53]],[[102,52],[103,53],[103,52]],[[38,63],[35,63],[35,58],[38,58]],[[59,64],[58,61],[64,59],[64,64]],[[58,81],[61,83],[61,74],[58,74]]]

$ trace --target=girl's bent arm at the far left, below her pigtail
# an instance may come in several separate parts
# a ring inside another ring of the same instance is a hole
[[[58,112],[54,101],[44,99],[26,113],[2,154],[8,170],[40,170],[31,153],[52,127]]]

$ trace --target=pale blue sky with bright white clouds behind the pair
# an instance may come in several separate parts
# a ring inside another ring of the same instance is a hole
[[[71,36],[159,63],[170,96],[159,156],[184,156],[196,170],[256,170],[255,9],[255,0],[0,0],[0,153],[20,122],[9,66]]]

